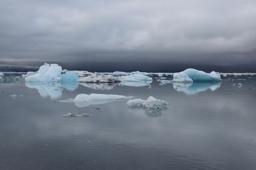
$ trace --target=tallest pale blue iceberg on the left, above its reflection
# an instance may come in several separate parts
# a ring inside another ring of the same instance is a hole
[[[58,64],[47,64],[41,66],[36,73],[29,72],[25,80],[27,82],[72,82],[77,81],[77,74],[73,71],[67,71],[63,73],[62,67]]]

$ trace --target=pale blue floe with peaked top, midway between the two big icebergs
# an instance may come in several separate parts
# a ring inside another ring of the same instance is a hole
[[[120,76],[118,77],[118,80],[121,81],[120,85],[126,85],[131,87],[143,87],[152,83],[151,77],[145,76],[138,71],[133,72],[131,75],[128,76]]]

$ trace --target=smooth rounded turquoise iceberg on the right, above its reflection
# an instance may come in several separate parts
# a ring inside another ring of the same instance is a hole
[[[220,73],[212,71],[205,73],[197,69],[186,69],[173,74],[173,82],[193,82],[193,81],[221,81]]]

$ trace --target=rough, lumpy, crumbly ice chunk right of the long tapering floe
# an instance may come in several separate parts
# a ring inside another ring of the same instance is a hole
[[[145,108],[150,111],[166,110],[167,102],[161,99],[156,99],[152,96],[148,97],[147,100],[143,99],[131,99],[127,102],[127,105],[131,108]]]

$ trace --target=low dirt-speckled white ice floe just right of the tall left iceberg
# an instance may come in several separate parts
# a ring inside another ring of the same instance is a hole
[[[85,76],[83,78],[79,78],[79,82],[83,83],[116,83],[120,82],[118,78],[112,75],[105,74],[92,74],[90,76]]]

